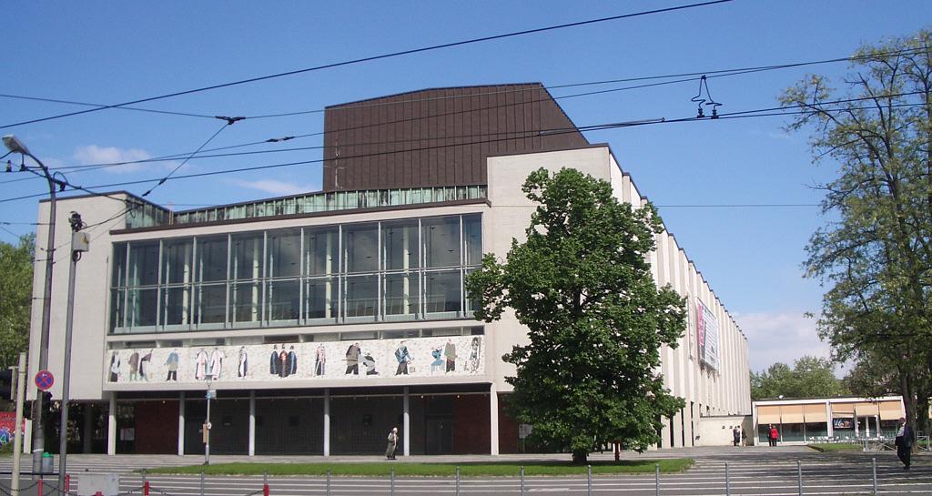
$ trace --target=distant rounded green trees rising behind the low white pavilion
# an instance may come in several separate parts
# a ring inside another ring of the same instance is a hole
[[[770,365],[760,374],[751,372],[751,399],[824,398],[841,396],[849,391],[835,377],[835,365],[825,358],[803,356],[793,368],[783,363]]]

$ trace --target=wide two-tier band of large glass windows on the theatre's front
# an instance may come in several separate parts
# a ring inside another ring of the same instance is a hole
[[[114,334],[472,316],[481,214],[114,244]]]

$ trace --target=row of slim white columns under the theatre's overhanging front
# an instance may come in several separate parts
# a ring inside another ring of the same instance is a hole
[[[185,392],[178,397],[178,456],[185,454]],[[404,421],[402,438],[404,456],[411,455],[411,402],[410,390],[404,387]],[[491,384],[488,395],[488,421],[490,454],[499,454],[499,395]],[[117,454],[117,393],[110,393],[107,418],[107,454]],[[249,456],[255,456],[255,392],[249,393]],[[330,456],[330,388],[323,390],[323,456]]]

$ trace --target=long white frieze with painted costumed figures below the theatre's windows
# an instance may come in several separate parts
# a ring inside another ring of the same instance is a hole
[[[113,350],[106,382],[472,376],[485,372],[482,336],[361,339],[244,346]]]

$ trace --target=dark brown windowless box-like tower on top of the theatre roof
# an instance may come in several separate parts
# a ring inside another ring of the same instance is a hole
[[[489,156],[589,145],[540,83],[343,103],[323,126],[324,191],[485,185]]]

